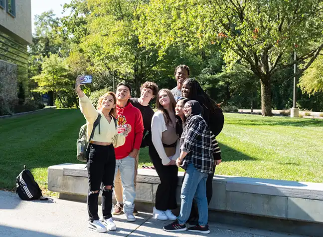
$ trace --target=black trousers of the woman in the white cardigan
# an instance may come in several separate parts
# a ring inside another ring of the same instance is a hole
[[[161,211],[176,209],[178,167],[175,165],[162,165],[162,159],[158,155],[154,145],[149,146],[149,156],[161,180],[161,184],[158,185],[156,191],[156,209]]]

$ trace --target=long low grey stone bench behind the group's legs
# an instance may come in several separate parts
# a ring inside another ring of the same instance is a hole
[[[178,172],[178,186],[181,186],[182,177],[183,172]],[[139,169],[136,205],[146,203],[153,206],[159,183],[155,170]],[[48,189],[59,192],[60,198],[84,201],[88,191],[85,165],[50,166]],[[180,204],[180,187],[176,195]],[[322,228],[323,184],[216,175],[209,209],[258,218],[314,223]]]

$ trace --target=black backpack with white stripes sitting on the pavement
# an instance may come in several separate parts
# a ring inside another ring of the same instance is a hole
[[[23,166],[23,170],[17,176],[16,193],[20,199],[26,201],[36,200],[42,197],[41,189],[39,188],[31,172],[26,169],[26,166]]]

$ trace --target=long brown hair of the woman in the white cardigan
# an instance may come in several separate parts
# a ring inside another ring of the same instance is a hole
[[[169,103],[169,110],[170,111],[173,111],[174,114],[175,114],[175,106],[176,106],[176,100],[173,96],[173,94],[170,92],[170,90],[168,89],[161,89],[159,92],[158,92],[158,95],[157,95],[157,98],[156,98],[156,107],[158,110],[160,110],[162,112],[162,115],[164,117],[164,120],[165,120],[165,124],[168,125],[170,122],[171,122],[171,119],[170,119],[170,116],[169,116],[169,113],[166,109],[164,109],[164,107],[161,105],[161,103],[159,102],[159,96],[162,92],[166,92],[166,94],[168,95],[169,97],[169,100],[170,100],[170,103]],[[182,131],[183,131],[183,128],[182,128],[182,124],[178,123],[180,119],[179,116],[175,115],[175,118],[176,118],[176,121],[175,121],[175,128],[176,128],[176,134],[178,136],[181,135]]]

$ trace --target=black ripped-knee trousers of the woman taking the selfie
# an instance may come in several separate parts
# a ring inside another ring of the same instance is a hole
[[[116,156],[114,147],[90,144],[89,160],[87,171],[89,177],[89,192],[87,196],[87,209],[89,220],[99,220],[98,198],[101,183],[104,186],[113,186],[114,173],[116,169]],[[94,193],[99,191],[98,193]],[[112,217],[112,193],[113,189],[102,189],[102,214],[104,219]]]

